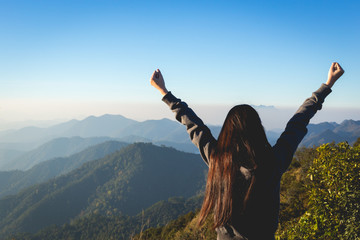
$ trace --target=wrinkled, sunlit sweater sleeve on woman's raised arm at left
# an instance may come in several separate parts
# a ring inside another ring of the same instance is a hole
[[[185,102],[176,98],[171,92],[168,92],[162,100],[175,113],[176,120],[186,126],[191,141],[199,149],[205,163],[209,165],[211,151],[216,145],[210,129]]]

